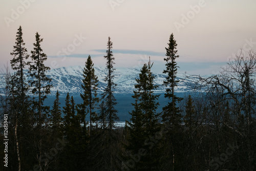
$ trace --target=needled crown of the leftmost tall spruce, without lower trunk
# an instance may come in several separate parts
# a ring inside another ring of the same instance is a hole
[[[8,90],[11,95],[10,105],[12,105],[13,112],[17,114],[18,126],[24,128],[29,126],[29,96],[27,95],[29,85],[25,77],[25,69],[28,66],[29,55],[25,48],[25,42],[23,41],[22,27],[19,26],[15,46],[13,46],[13,59],[11,60],[11,67],[14,70],[14,74],[11,76],[10,87]],[[24,124],[24,125],[23,125]]]

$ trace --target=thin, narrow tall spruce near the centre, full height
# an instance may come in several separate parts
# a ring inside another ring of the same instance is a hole
[[[117,116],[117,110],[115,109],[115,105],[117,104],[116,99],[114,97],[114,90],[117,84],[114,83],[114,60],[113,52],[112,52],[112,41],[108,40],[107,48],[106,50],[106,56],[104,58],[106,59],[106,70],[107,74],[104,78],[104,81],[106,82],[106,88],[104,89],[103,93],[101,94],[101,101],[104,101],[104,109],[103,112],[104,116],[100,116],[101,118],[105,118],[105,128],[102,132],[102,142],[103,150],[99,155],[101,155],[102,161],[99,165],[98,169],[101,170],[116,170],[118,167],[118,149],[117,149],[117,140],[116,140],[116,131],[115,128],[115,121],[119,120]],[[103,109],[102,108],[102,109]]]

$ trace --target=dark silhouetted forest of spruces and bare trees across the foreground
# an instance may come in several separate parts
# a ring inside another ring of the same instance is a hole
[[[50,68],[44,65],[42,38],[36,33],[29,55],[22,35],[19,27],[11,52],[15,72],[7,69],[1,97],[0,157],[8,154],[8,162],[2,162],[0,170],[256,169],[255,53],[237,55],[218,75],[189,76],[195,78],[197,93],[180,98],[175,95],[179,55],[171,34],[162,84],[166,106],[157,112],[160,95],[155,94],[158,86],[149,58],[134,85],[131,119],[120,128],[115,125],[119,118],[110,37],[103,93],[98,95],[98,77],[89,55],[83,69],[82,103],[76,104],[67,93],[60,108],[58,91],[52,106],[44,105],[52,86],[46,76]]]

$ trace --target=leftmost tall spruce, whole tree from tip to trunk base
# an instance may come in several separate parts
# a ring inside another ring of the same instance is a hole
[[[28,92],[28,83],[26,81],[25,69],[28,66],[29,55],[27,54],[27,49],[25,48],[25,42],[23,40],[23,32],[22,27],[19,26],[15,46],[13,46],[13,51],[11,55],[13,55],[13,59],[11,60],[11,68],[14,70],[14,74],[11,76],[10,88],[8,89],[11,95],[10,99],[10,114],[13,114],[14,122],[14,136],[15,136],[15,144],[16,144],[16,155],[18,161],[18,168],[20,170],[22,167],[21,164],[21,155],[20,155],[20,145],[23,142],[20,142],[20,137],[26,137],[25,139],[29,139],[28,135],[30,134],[29,129],[29,97],[27,95]],[[20,144],[19,144],[20,143]],[[23,153],[22,153],[23,154]],[[23,158],[23,156],[22,156]],[[24,166],[24,165],[23,165]]]

